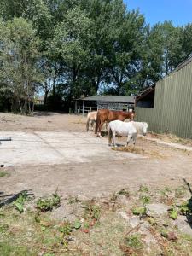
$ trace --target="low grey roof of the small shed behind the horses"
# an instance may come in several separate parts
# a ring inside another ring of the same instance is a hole
[[[134,96],[113,96],[113,95],[96,95],[81,98],[79,100],[86,102],[118,102],[118,103],[135,103]]]

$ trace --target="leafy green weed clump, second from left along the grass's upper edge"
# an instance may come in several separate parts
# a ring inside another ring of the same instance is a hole
[[[36,204],[41,212],[47,212],[52,211],[54,207],[59,207],[60,201],[60,196],[55,193],[50,198],[39,198]]]

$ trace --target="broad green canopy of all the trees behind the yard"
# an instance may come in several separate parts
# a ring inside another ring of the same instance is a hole
[[[0,0],[0,96],[30,113],[39,91],[70,102],[131,95],[192,54],[192,23],[149,26],[122,0]]]

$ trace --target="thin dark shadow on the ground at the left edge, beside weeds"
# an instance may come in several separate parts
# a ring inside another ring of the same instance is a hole
[[[0,207],[4,207],[11,204],[13,201],[19,198],[19,196],[22,195],[23,193],[25,193],[26,196],[34,195],[32,193],[32,189],[22,190],[19,193],[9,194],[9,195],[4,195],[4,192],[0,191]]]

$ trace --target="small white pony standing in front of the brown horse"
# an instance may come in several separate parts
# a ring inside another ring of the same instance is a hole
[[[112,121],[108,124],[108,145],[111,146],[113,139],[113,145],[117,147],[115,143],[116,134],[120,136],[127,136],[127,142],[125,146],[127,146],[131,140],[135,145],[137,134],[139,133],[145,136],[147,129],[148,124],[143,122],[131,121],[126,123],[119,120]]]

